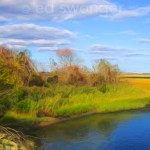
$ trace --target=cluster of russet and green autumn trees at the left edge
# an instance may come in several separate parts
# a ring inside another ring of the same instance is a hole
[[[17,53],[0,47],[1,90],[28,85],[33,74],[37,74],[37,71],[26,51]]]

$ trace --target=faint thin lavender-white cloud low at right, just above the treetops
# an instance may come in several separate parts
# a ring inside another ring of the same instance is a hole
[[[94,44],[88,48],[90,57],[93,60],[106,59],[106,60],[124,60],[130,58],[143,58],[149,57],[146,49],[134,49],[127,47],[117,47],[113,45]]]

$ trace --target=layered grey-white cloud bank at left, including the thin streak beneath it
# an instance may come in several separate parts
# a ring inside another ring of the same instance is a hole
[[[1,45],[7,47],[52,47],[69,45],[77,35],[69,30],[35,24],[0,26]]]

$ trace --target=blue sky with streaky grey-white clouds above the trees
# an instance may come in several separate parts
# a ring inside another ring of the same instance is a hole
[[[149,26],[149,0],[0,0],[0,45],[29,50],[40,69],[72,48],[87,67],[150,73]]]

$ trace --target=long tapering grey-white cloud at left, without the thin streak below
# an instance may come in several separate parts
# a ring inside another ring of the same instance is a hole
[[[35,24],[14,24],[0,26],[0,36],[15,39],[56,39],[58,37],[75,37],[76,34],[64,29]]]

